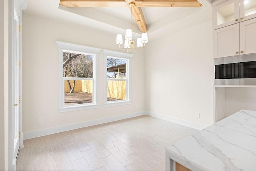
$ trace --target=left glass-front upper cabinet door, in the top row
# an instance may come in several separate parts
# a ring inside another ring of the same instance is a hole
[[[239,0],[228,0],[212,9],[213,29],[222,28],[240,22]]]

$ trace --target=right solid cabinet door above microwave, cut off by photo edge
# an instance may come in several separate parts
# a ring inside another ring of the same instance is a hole
[[[256,18],[240,22],[240,54],[256,53]]]

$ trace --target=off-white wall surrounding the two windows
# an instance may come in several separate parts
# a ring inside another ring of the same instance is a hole
[[[104,107],[104,59],[99,59],[98,109],[58,113],[58,46],[56,40],[120,50],[116,35],[74,24],[23,14],[23,131],[24,133],[94,119],[144,111],[144,50],[132,52],[132,104]],[[138,109],[136,105],[139,105]],[[38,123],[43,117],[44,123]]]

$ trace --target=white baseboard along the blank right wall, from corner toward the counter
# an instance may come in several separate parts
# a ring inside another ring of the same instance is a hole
[[[162,115],[162,114],[159,114],[159,113],[153,113],[153,112],[150,112],[150,111],[146,111],[145,113],[146,113],[146,115],[149,115],[149,116],[152,116],[152,117],[156,117],[156,118],[163,119],[165,121],[170,121],[170,122],[173,122],[173,123],[178,123],[180,125],[184,125],[184,126],[191,127],[191,128],[194,128],[194,129],[202,130],[202,129],[208,127],[207,125],[202,125],[202,124],[199,124],[199,123],[185,121],[185,120],[182,120],[182,119]]]

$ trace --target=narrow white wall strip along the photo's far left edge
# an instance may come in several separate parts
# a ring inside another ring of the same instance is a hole
[[[8,0],[0,1],[0,170],[8,170]],[[10,161],[10,162],[9,162]]]

